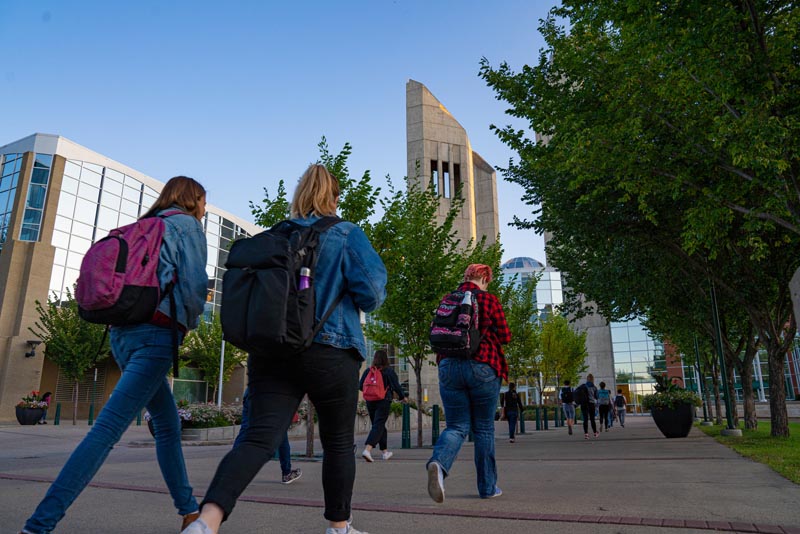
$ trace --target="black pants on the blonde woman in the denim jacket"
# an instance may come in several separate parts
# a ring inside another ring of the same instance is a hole
[[[227,519],[236,500],[275,455],[303,395],[308,394],[319,416],[324,450],[325,518],[349,519],[356,474],[353,433],[360,365],[355,351],[316,343],[286,359],[251,355],[249,426],[217,467],[201,507],[212,502],[222,508]]]

